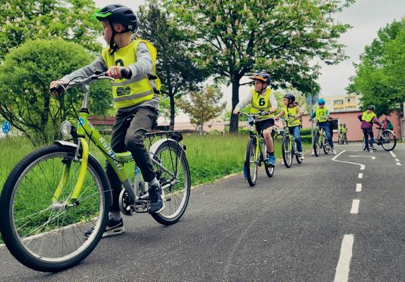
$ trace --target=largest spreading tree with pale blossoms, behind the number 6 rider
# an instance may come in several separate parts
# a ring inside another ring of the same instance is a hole
[[[333,16],[353,2],[164,1],[173,23],[189,35],[195,59],[232,84],[232,109],[239,102],[242,76],[263,66],[273,75],[273,87],[289,82],[301,92],[310,92],[311,85],[318,90],[318,67],[311,62],[334,64],[345,58],[337,40],[349,25],[337,23]],[[230,130],[237,130],[237,116],[231,117]]]

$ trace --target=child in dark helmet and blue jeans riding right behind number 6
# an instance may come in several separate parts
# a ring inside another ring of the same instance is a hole
[[[293,94],[285,94],[282,102],[285,106],[282,107],[282,111],[275,116],[275,118],[286,116],[286,118],[289,119],[289,121],[287,121],[287,127],[289,133],[294,135],[295,142],[297,142],[297,156],[304,159],[301,143],[301,116],[304,114],[304,111],[301,109],[298,102],[295,102],[295,96]]]

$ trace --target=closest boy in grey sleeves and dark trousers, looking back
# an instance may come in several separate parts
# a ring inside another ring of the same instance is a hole
[[[92,75],[95,71],[106,71],[106,75],[116,79],[113,82],[113,101],[117,114],[111,133],[111,149],[114,152],[132,153],[144,180],[149,183],[149,212],[161,212],[164,209],[163,190],[144,147],[144,134],[151,130],[158,118],[161,83],[156,76],[156,49],[146,40],[132,40],[132,33],[137,31],[139,22],[127,6],[105,6],[94,13],[93,18],[101,21],[104,27],[102,35],[109,46],[94,62],[60,80],[52,81],[50,87],[66,84],[80,75]],[[131,78],[123,78],[123,69],[132,73]],[[113,203],[103,237],[124,232],[118,204],[121,182],[108,162],[106,173],[113,190]]]

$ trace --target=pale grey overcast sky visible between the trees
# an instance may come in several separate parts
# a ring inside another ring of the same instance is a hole
[[[96,6],[102,7],[111,4],[107,0],[95,0]],[[143,0],[113,0],[114,3],[123,4],[133,8],[135,11],[144,4]],[[335,18],[341,23],[348,23],[352,28],[342,35],[339,42],[346,45],[345,54],[349,59],[336,66],[327,66],[320,62],[321,75],[318,83],[321,87],[321,95],[342,95],[346,94],[344,88],[349,85],[349,78],[355,74],[354,62],[359,61],[359,56],[364,47],[377,37],[381,27],[392,23],[394,20],[401,20],[405,16],[405,0],[357,0],[349,8],[345,8]],[[248,81],[248,80],[247,80]],[[242,80],[244,82],[244,80]],[[230,109],[232,90],[231,87],[222,87],[227,102],[227,109]],[[248,92],[249,87],[242,86],[239,95]],[[180,116],[179,119],[184,119]]]

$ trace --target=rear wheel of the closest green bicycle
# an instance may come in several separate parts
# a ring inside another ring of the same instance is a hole
[[[163,152],[166,151],[168,151],[168,154],[163,156]],[[189,164],[187,162],[185,150],[179,143],[172,140],[163,142],[156,149],[156,152],[151,152],[151,154],[159,163],[161,163],[173,174],[176,173],[178,165],[182,167],[177,174],[178,182],[174,186],[169,186],[164,191],[165,208],[159,213],[151,214],[154,220],[156,220],[158,223],[169,226],[179,221],[187,209],[191,193]],[[168,177],[170,177],[170,180],[173,180],[172,177],[168,173],[164,172],[159,166],[156,166],[156,164],[154,164],[154,166],[156,178],[158,178],[161,186],[167,183]],[[177,203],[179,203],[178,207],[175,207]]]

